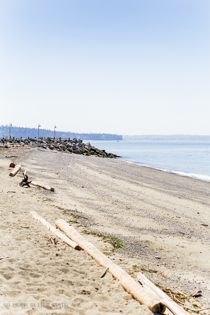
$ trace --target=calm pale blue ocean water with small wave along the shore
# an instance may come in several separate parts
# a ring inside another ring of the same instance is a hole
[[[90,143],[107,153],[122,156],[120,159],[128,163],[210,181],[210,141],[90,140]]]

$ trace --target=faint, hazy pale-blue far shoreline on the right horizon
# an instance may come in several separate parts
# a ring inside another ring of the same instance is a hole
[[[210,140],[208,135],[122,135],[123,140]]]

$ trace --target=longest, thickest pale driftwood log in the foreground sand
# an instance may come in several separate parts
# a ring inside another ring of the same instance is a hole
[[[156,298],[154,294],[151,294],[150,291],[138,284],[126,271],[114,264],[92,243],[88,242],[86,238],[80,235],[73,226],[69,226],[69,224],[62,219],[57,220],[55,225],[84,249],[97,264],[108,269],[108,272],[111,273],[113,278],[115,278],[134,299],[139,301],[140,304],[145,304],[152,312],[163,313],[165,311],[166,306],[160,298]]]

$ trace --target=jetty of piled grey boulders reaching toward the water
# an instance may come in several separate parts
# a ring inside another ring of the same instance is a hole
[[[73,140],[61,139],[0,139],[0,147],[8,148],[10,146],[39,146],[43,149],[57,150],[65,153],[83,154],[86,156],[95,155],[104,158],[120,157],[116,154],[107,153],[105,150],[99,150],[91,146],[90,142],[83,143],[82,140],[74,138]]]

